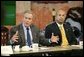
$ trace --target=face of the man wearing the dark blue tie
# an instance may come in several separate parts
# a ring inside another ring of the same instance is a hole
[[[25,13],[24,14],[24,19],[23,19],[24,25],[27,26],[27,27],[30,26],[32,24],[32,18],[33,18],[32,14]]]

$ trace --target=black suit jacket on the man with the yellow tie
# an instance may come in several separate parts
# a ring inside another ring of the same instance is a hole
[[[66,33],[66,37],[67,37],[67,40],[69,42],[69,45],[76,44],[77,41],[76,41],[75,35],[74,35],[74,33],[73,33],[72,28],[70,27],[70,25],[67,24],[67,23],[64,23],[63,26],[64,26],[64,29],[65,29],[65,33]],[[45,38],[46,39],[50,39],[52,33],[54,33],[55,36],[59,36],[60,39],[58,41],[58,44],[57,43],[51,43],[50,44],[49,42],[47,44],[49,46],[61,45],[61,43],[62,43],[61,31],[59,30],[59,27],[56,24],[56,22],[53,22],[53,23],[49,24],[45,28]]]

